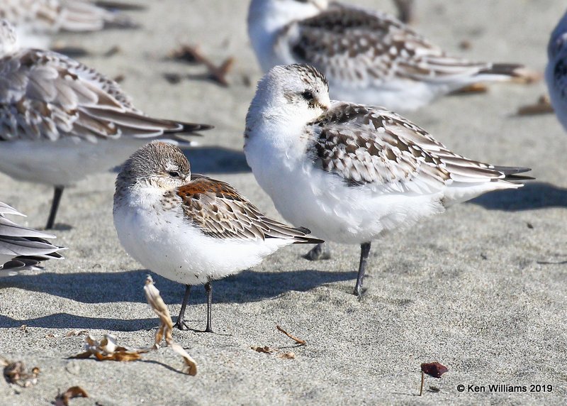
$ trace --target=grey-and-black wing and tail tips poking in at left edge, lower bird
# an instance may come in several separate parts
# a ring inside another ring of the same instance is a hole
[[[43,260],[63,258],[57,251],[64,248],[54,246],[46,239],[55,236],[19,226],[6,215],[24,216],[0,202],[0,275],[33,268]]]

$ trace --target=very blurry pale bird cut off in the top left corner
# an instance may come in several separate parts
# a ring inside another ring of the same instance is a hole
[[[0,0],[0,18],[16,26],[25,48],[49,48],[59,31],[100,31],[108,26],[135,27],[123,13],[87,0]]]

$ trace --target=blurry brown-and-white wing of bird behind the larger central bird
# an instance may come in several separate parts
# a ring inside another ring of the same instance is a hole
[[[276,53],[322,70],[331,82],[352,87],[393,79],[447,82],[490,73],[496,65],[451,57],[393,16],[332,4],[312,18],[288,24],[276,40]],[[512,75],[519,65],[498,65]]]

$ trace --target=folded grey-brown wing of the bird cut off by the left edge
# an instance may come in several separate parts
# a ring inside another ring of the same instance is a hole
[[[0,59],[0,141],[96,142],[207,128],[145,116],[116,82],[64,55],[22,50]]]

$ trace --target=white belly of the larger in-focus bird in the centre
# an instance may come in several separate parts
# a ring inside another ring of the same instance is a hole
[[[289,158],[271,156],[269,148],[256,146],[254,140],[245,152],[259,185],[283,218],[327,241],[364,243],[444,211],[441,192],[396,194],[369,185],[350,187],[311,163],[296,165]]]

